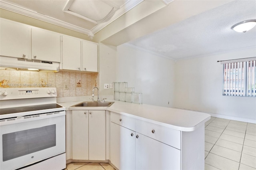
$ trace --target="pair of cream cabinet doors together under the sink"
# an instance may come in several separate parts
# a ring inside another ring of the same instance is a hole
[[[72,111],[72,159],[106,160],[105,111]]]

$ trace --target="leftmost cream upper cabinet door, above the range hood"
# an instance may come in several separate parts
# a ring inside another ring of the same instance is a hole
[[[29,26],[1,18],[0,37],[0,55],[31,59]]]

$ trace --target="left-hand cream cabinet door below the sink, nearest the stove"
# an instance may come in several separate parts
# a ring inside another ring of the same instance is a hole
[[[72,158],[88,160],[88,111],[72,111]]]

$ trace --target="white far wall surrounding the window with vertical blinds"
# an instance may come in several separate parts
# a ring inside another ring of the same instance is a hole
[[[176,61],[174,106],[255,123],[256,98],[222,96],[223,68],[217,62],[255,56],[256,48],[250,47]]]

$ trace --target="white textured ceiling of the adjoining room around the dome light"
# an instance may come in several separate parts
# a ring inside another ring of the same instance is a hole
[[[251,19],[256,19],[256,1],[233,1],[129,43],[172,59],[252,46],[256,51],[256,27],[245,33],[231,29]]]

